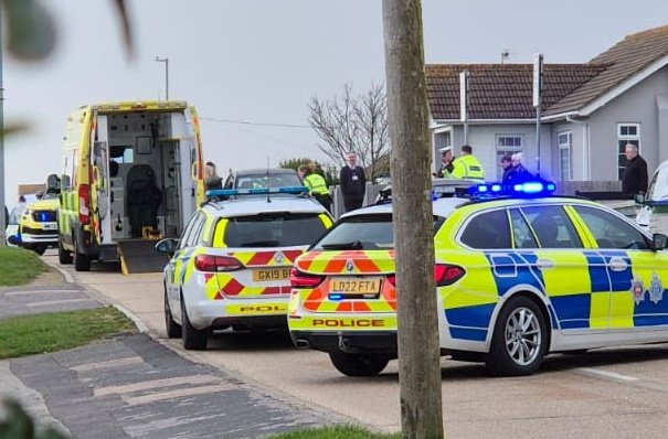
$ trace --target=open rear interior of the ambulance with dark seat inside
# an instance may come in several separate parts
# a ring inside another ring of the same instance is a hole
[[[178,237],[193,211],[194,133],[182,111],[97,116],[103,243]]]

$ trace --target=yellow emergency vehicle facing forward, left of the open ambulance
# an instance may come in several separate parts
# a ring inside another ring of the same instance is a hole
[[[59,205],[59,196],[50,193],[41,200],[28,204],[19,217],[19,236],[23,248],[43,255],[46,247],[57,246]]]

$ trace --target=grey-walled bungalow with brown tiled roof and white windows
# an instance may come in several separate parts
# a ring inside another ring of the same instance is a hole
[[[585,64],[545,64],[540,151],[531,64],[427,65],[434,167],[441,148],[464,144],[459,73],[468,71],[468,143],[487,179],[500,176],[501,156],[523,152],[544,178],[617,181],[627,143],[651,174],[668,159],[667,64],[668,25],[628,35]]]

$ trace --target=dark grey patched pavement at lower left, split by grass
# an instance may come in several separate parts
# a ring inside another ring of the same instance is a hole
[[[57,271],[0,288],[0,319],[106,304]],[[257,438],[341,421],[180,356],[147,333],[0,361],[0,396],[73,438]]]

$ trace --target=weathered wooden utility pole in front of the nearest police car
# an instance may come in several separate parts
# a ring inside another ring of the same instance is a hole
[[[383,0],[404,438],[443,438],[422,6]]]

